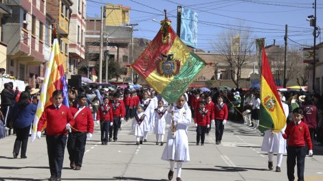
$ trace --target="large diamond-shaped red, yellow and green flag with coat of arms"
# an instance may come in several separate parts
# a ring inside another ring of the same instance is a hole
[[[161,21],[161,29],[131,67],[166,101],[175,102],[205,66],[181,41],[170,27]]]

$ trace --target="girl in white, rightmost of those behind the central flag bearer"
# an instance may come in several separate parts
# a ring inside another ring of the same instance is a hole
[[[165,135],[165,117],[167,115],[167,110],[164,108],[164,101],[159,100],[158,106],[155,108],[151,122],[154,123],[154,133],[156,134],[156,145],[164,145],[164,135]]]

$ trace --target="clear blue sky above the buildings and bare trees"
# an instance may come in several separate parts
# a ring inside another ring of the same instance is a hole
[[[164,9],[176,31],[177,5],[183,5],[198,13],[197,48],[204,51],[214,51],[211,43],[216,43],[218,34],[236,28],[239,23],[249,27],[254,37],[266,38],[266,45],[271,45],[274,39],[276,45],[285,45],[286,24],[290,46],[300,49],[302,45],[313,45],[313,27],[306,19],[314,14],[314,0],[88,0],[87,16],[100,17],[100,5],[107,2],[131,7],[130,21],[139,24],[134,32],[137,38],[155,37],[160,25],[153,19],[157,22],[164,19]],[[317,25],[323,29],[323,1],[317,2]],[[320,43],[320,37],[316,42]]]

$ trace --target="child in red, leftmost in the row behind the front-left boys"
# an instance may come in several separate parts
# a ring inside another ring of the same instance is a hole
[[[101,144],[108,145],[108,132],[110,127],[113,126],[113,112],[109,105],[109,97],[103,98],[103,104],[99,107],[96,115],[96,120],[100,120],[101,125]]]

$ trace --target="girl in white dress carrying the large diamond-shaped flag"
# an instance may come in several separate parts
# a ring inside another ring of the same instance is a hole
[[[187,128],[188,125],[190,125],[192,114],[190,109],[186,109],[185,104],[186,100],[182,95],[177,99],[176,106],[168,112],[166,117],[166,121],[170,123],[171,127],[168,131],[167,143],[164,152],[161,155],[161,160],[170,162],[170,171],[168,172],[169,180],[172,180],[175,162],[177,162],[176,180],[181,181],[181,167],[183,162],[190,161]],[[175,132],[173,132],[173,130]]]

